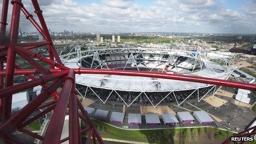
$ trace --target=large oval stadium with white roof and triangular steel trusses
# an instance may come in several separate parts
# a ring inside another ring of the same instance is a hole
[[[178,73],[188,76],[228,79],[234,66],[225,57],[209,57],[199,47],[93,47],[81,51],[75,46],[61,59],[70,68],[97,68]],[[173,79],[76,74],[77,91],[84,98],[115,105],[170,105],[192,100],[200,102],[220,87]]]

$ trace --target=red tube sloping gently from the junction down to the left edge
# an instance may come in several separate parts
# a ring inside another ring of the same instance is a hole
[[[35,86],[38,86],[40,84],[45,84],[46,82],[53,81],[55,79],[61,78],[67,74],[67,71],[60,72],[60,73],[54,73],[49,76],[41,77],[34,79],[32,81],[26,82],[26,83],[20,83],[5,89],[0,89],[0,98],[6,97],[7,95],[18,93],[22,90],[33,88]]]

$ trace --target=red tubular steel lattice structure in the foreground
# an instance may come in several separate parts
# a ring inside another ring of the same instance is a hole
[[[32,3],[35,9],[34,12],[39,19],[39,23],[36,22],[33,15],[31,15],[28,10],[25,9],[22,0],[13,0],[10,3],[13,6],[9,35],[5,35],[9,4],[8,0],[3,0],[0,31],[0,137],[6,143],[33,143],[15,136],[13,134],[15,131],[20,131],[26,135],[32,136],[38,140],[41,140],[42,143],[61,143],[67,140],[69,140],[70,143],[81,143],[81,133],[88,132],[89,135],[86,143],[90,143],[91,139],[93,140],[93,143],[96,143],[96,141],[103,143],[97,129],[95,129],[93,123],[90,121],[87,111],[84,110],[81,102],[77,98],[75,74],[116,74],[122,76],[166,78],[176,79],[179,81],[199,82],[215,84],[218,86],[256,90],[256,85],[254,84],[225,81],[213,78],[184,76],[180,74],[68,68],[62,64],[61,59],[57,54],[57,50],[55,49],[54,43],[50,37],[38,1],[32,0]],[[31,24],[34,25],[45,41],[18,43],[20,12],[24,13],[26,19],[28,19]],[[31,51],[32,49],[36,49],[37,47],[41,46],[48,47],[49,58]],[[23,69],[17,63],[15,63],[15,57],[18,55],[25,61],[29,62],[34,69]],[[47,63],[50,68],[41,66],[40,63],[35,60]],[[5,69],[3,65],[4,63],[7,63]],[[41,74],[41,77],[38,78],[35,76],[35,74]],[[31,81],[13,85],[14,76],[18,75],[25,75],[31,79]],[[86,79],[84,80],[86,81]],[[23,109],[20,109],[17,113],[12,114],[12,94],[39,85],[41,85],[44,90],[42,90],[42,92],[36,98],[31,100],[31,102]],[[61,93],[58,94],[56,89],[60,87],[62,90]],[[51,100],[45,102],[46,99]],[[34,111],[39,109],[43,110],[40,113],[31,116]],[[53,111],[53,113],[44,136],[24,128],[26,125],[41,118],[50,111]],[[69,136],[61,139],[63,123],[65,121],[67,111],[69,114]],[[79,125],[79,119],[87,124],[85,128],[81,128]]]

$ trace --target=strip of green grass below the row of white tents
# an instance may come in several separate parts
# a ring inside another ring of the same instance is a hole
[[[200,138],[211,142],[218,142],[233,134],[232,132],[211,127],[193,129],[122,130],[97,120],[92,121],[100,135],[104,138],[149,143],[201,143],[201,141],[198,141]],[[82,127],[84,127],[84,122],[82,122]]]

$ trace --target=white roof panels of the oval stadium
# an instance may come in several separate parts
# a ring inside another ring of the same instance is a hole
[[[76,63],[72,65],[65,64],[67,67],[78,67]],[[212,72],[214,70],[214,72]],[[223,79],[223,71],[226,71],[226,68],[218,65],[214,62],[207,62],[207,67],[202,69],[201,71],[197,71],[194,73],[190,73],[190,75],[201,76],[201,77],[212,77],[212,78],[220,78]],[[210,73],[210,74],[209,74]],[[87,81],[84,81],[87,79]],[[103,82],[104,81],[104,84]],[[152,87],[152,82],[159,82],[161,87]],[[117,89],[117,90],[128,90],[128,91],[136,91],[141,92],[142,90],[146,90],[146,92],[159,92],[159,91],[179,91],[179,90],[188,90],[198,88],[199,86],[209,86],[208,84],[195,83],[195,82],[184,82],[177,81],[173,79],[162,79],[162,78],[148,78],[148,77],[133,77],[131,76],[116,76],[116,75],[108,75],[108,74],[79,74],[76,75],[76,83],[90,86],[90,87],[98,87],[104,89]],[[177,88],[177,86],[179,86]]]

